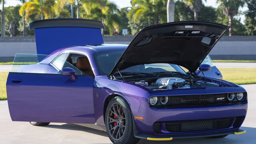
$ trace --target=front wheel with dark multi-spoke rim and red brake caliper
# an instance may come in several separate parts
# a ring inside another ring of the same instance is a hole
[[[114,144],[136,144],[140,140],[134,137],[132,111],[121,96],[112,98],[108,103],[105,125],[108,137]]]

